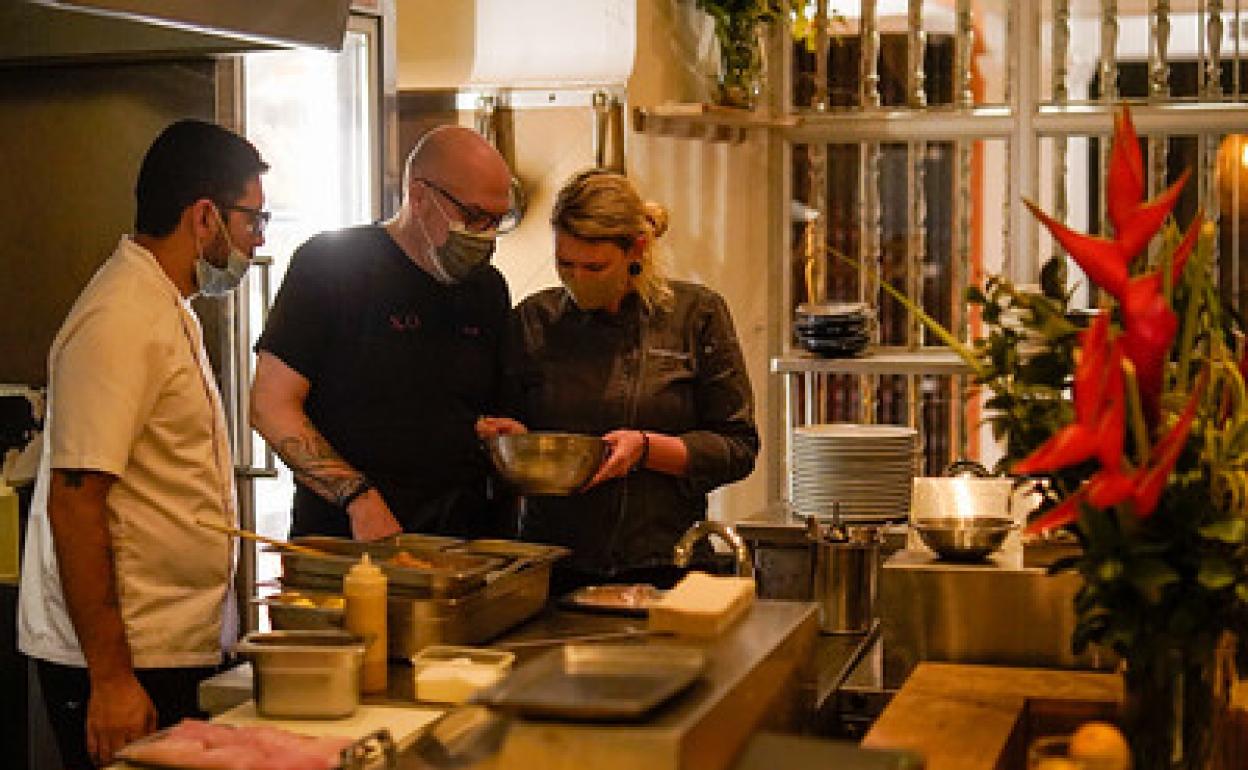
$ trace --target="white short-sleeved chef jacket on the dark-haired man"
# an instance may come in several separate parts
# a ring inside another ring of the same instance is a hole
[[[44,457],[31,503],[17,646],[85,665],[47,520],[51,468],[116,477],[106,499],[117,600],[136,668],[215,665],[237,522],[221,396],[190,303],[122,237],[49,353]]]

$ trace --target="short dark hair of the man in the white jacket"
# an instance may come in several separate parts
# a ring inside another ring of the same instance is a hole
[[[200,198],[235,203],[268,163],[246,139],[201,120],[180,120],[147,149],[135,183],[135,231],[163,237]]]

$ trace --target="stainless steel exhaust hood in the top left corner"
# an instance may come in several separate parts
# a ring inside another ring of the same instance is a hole
[[[0,0],[0,64],[339,50],[351,0]]]

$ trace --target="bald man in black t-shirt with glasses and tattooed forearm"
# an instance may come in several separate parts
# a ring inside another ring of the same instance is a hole
[[[295,472],[292,535],[480,529],[473,423],[497,407],[510,307],[489,258],[514,221],[507,163],[446,126],[408,156],[392,220],[295,252],[251,391],[252,426]]]

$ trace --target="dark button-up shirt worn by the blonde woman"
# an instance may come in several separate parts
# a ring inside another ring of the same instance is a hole
[[[643,469],[525,500],[520,537],[572,548],[575,569],[609,577],[670,564],[680,535],[705,518],[706,493],[754,468],[754,397],[728,306],[694,283],[671,288],[670,309],[629,296],[618,313],[583,312],[562,288],[515,308],[510,401],[530,431],[634,428],[689,449],[684,477]]]

